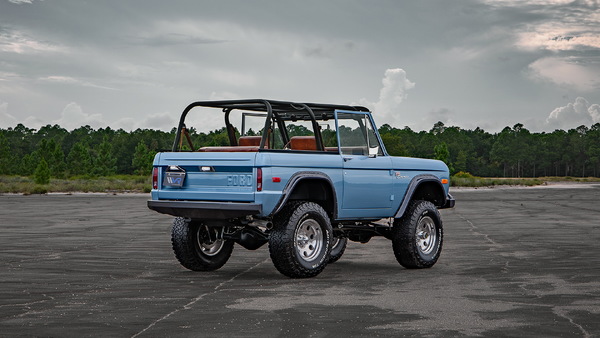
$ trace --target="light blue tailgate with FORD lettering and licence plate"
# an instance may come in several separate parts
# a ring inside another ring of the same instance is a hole
[[[252,202],[255,152],[159,153],[158,189],[153,200]]]

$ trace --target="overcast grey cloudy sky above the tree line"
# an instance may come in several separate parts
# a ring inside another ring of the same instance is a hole
[[[0,128],[170,130],[230,98],[361,104],[413,130],[589,127],[600,1],[0,0]]]

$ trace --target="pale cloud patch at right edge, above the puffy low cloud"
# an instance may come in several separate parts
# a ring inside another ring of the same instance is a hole
[[[595,60],[586,62],[577,58],[546,57],[531,63],[529,71],[533,79],[576,90],[597,91],[600,88],[600,63]]]

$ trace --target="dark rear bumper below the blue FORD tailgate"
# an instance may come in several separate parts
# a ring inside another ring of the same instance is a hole
[[[228,219],[262,212],[260,204],[233,202],[151,200],[148,201],[148,208],[162,214],[197,219]]]

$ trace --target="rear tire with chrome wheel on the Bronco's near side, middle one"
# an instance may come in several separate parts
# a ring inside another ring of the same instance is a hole
[[[273,218],[269,253],[273,265],[291,278],[314,277],[329,262],[333,231],[329,216],[313,202],[289,202]]]

